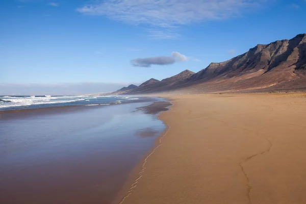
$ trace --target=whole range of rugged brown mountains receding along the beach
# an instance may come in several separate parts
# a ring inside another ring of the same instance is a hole
[[[185,70],[173,77],[149,79],[113,94],[156,92],[213,93],[306,89],[306,34],[290,40],[258,44],[225,62],[211,63],[195,73]]]

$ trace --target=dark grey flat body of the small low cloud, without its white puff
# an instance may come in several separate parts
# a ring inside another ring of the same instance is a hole
[[[133,66],[136,67],[150,67],[151,65],[168,65],[173,64],[175,59],[173,57],[161,56],[161,57],[149,57],[149,58],[137,58],[131,61]]]

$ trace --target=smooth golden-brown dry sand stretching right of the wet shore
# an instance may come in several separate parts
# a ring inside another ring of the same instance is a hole
[[[306,94],[168,97],[169,130],[121,203],[306,203]]]

